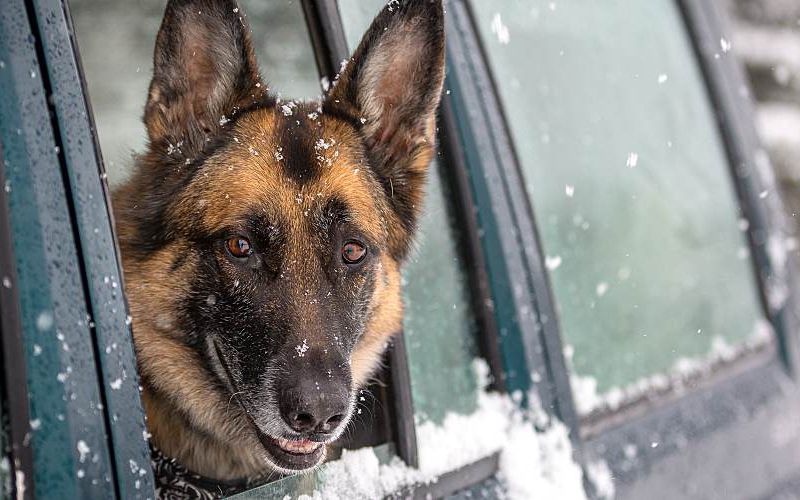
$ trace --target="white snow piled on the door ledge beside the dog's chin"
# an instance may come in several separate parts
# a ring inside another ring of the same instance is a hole
[[[486,363],[476,360],[474,367],[485,386]],[[535,398],[531,400],[536,407]],[[448,414],[442,425],[418,425],[419,469],[397,457],[381,464],[371,448],[345,450],[341,459],[321,471],[322,491],[299,500],[383,498],[406,486],[434,483],[444,473],[497,452],[506,498],[586,498],[583,472],[573,460],[569,433],[561,422],[547,422],[541,410],[522,412],[504,394],[481,391],[477,406],[470,415]],[[542,421],[544,430],[535,430],[532,422]],[[613,495],[613,484],[610,487]]]

